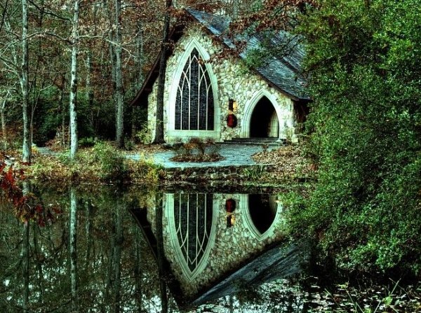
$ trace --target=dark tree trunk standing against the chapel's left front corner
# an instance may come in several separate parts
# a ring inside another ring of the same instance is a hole
[[[170,8],[171,0],[166,0],[166,12],[163,23],[163,39],[161,44],[161,60],[159,62],[158,94],[156,95],[156,127],[155,144],[162,144],[163,141],[163,91],[165,88],[166,57],[168,53],[168,34],[170,32]]]

